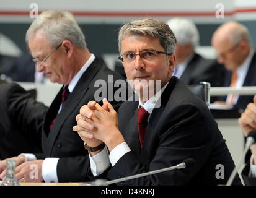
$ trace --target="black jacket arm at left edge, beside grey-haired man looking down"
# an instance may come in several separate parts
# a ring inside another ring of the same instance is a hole
[[[18,84],[0,80],[0,158],[40,153],[42,121],[48,108]]]

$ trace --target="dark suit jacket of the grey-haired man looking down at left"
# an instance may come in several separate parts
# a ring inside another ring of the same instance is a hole
[[[84,142],[72,127],[77,124],[76,115],[79,114],[81,106],[95,100],[94,93],[99,89],[99,87],[95,87],[95,81],[105,80],[108,82],[108,75],[113,75],[114,80],[123,79],[121,75],[108,69],[103,62],[96,58],[77,82],[58,116],[56,117],[56,114],[60,108],[63,88],[56,95],[46,113],[42,134],[43,153],[45,157],[60,158],[57,165],[59,182],[88,181],[86,178],[86,170],[90,165],[88,151],[84,149]],[[106,95],[105,98],[112,101],[116,110],[121,105],[121,102],[113,101],[113,96]],[[49,131],[51,121],[55,117],[56,121]]]

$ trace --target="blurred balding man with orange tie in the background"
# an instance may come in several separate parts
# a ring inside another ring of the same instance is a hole
[[[224,64],[224,87],[242,87],[256,85],[256,56],[247,28],[237,22],[226,22],[213,34],[211,40],[219,64]],[[227,106],[240,113],[252,102],[252,95],[229,94],[219,97],[218,105]]]

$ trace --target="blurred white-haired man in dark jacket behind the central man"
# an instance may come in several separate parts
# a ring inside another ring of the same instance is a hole
[[[224,67],[216,60],[208,60],[195,53],[199,33],[192,20],[175,17],[168,20],[167,24],[177,38],[173,75],[187,85],[206,81],[210,82],[211,87],[220,86]]]

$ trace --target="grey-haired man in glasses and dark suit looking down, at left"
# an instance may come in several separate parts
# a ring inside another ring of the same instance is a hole
[[[114,80],[121,76],[90,53],[84,34],[69,12],[42,12],[27,30],[26,40],[37,71],[63,87],[43,121],[43,155],[15,157],[19,165],[16,178],[26,182],[86,181],[88,152],[79,135],[72,130],[75,117],[82,105],[97,100],[94,97],[99,89],[94,85],[96,80],[108,82],[108,74],[113,75]],[[113,101],[113,106],[118,108],[120,103]],[[36,160],[40,158],[43,160]],[[0,169],[4,163],[0,162]],[[38,179],[29,176],[31,164],[38,165]],[[4,172],[0,175],[3,177]]]

